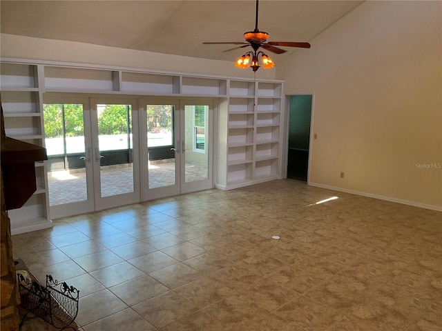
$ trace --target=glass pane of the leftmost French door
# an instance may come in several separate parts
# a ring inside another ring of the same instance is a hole
[[[83,105],[44,104],[45,146],[48,153],[50,206],[86,201],[86,153]]]

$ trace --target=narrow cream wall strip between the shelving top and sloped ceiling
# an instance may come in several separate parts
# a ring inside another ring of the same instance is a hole
[[[234,61],[218,61],[180,57],[178,55],[127,50],[52,39],[1,34],[0,54],[3,58],[88,63],[99,66],[129,67],[165,72],[213,74],[222,77],[253,79],[253,71],[238,70]],[[276,70],[261,70],[259,79],[275,79]]]

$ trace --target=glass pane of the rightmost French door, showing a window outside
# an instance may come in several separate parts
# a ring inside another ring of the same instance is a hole
[[[209,178],[209,106],[184,106],[184,183]]]

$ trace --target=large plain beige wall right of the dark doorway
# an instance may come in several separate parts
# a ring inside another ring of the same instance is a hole
[[[442,210],[441,1],[366,1],[276,77],[314,93],[312,185]]]

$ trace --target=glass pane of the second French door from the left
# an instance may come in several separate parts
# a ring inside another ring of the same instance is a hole
[[[132,106],[97,104],[101,197],[134,192]]]

